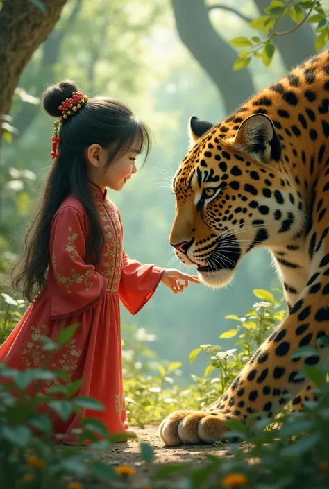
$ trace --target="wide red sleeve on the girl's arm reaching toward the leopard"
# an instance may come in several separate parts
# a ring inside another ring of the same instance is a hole
[[[155,293],[165,268],[142,265],[126,252],[123,255],[119,298],[130,314],[137,314]]]

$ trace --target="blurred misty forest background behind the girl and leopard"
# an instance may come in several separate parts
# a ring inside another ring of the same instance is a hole
[[[314,54],[319,35],[323,46],[328,42],[328,23],[321,26],[321,12],[314,10],[318,18],[313,22],[304,22],[288,36],[273,37],[276,52],[269,67],[252,57],[246,69],[233,71],[238,51],[230,40],[255,35],[266,40],[266,33],[255,31],[250,22],[266,15],[270,3],[277,9],[287,3],[289,8],[301,5],[304,17],[312,3],[314,8],[328,7],[326,1],[305,0],[0,2],[0,273],[8,274],[22,246],[26,219],[49,168],[53,120],[42,111],[40,95],[61,78],[74,79],[90,96],[126,101],[149,123],[155,135],[149,161],[124,191],[109,197],[121,210],[125,249],[131,257],[180,267],[171,263],[168,242],[174,216],[169,182],[187,151],[189,117],[220,121]],[[280,32],[296,26],[300,18],[298,9],[285,16]],[[321,31],[324,28],[327,31]],[[243,314],[253,300],[252,289],[276,286],[269,255],[255,250],[227,289],[191,284],[183,295],[173,295],[160,286],[140,314],[132,318],[123,310],[123,319],[156,334],[153,348],[159,357],[183,361],[188,372],[191,350],[201,343],[218,343],[226,328],[223,316]]]

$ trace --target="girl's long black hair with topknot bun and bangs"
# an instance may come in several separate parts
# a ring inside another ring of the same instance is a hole
[[[65,98],[71,98],[77,90],[78,87],[71,80],[52,85],[44,92],[44,109],[49,115],[60,117],[59,105]],[[36,296],[41,297],[44,291],[51,263],[51,221],[70,194],[74,194],[81,201],[90,223],[86,256],[90,257],[90,263],[94,266],[99,263],[103,232],[88,184],[85,150],[91,144],[99,144],[106,148],[107,167],[116,157],[128,151],[136,139],[140,141],[141,151],[146,150],[145,159],[151,147],[149,128],[136,119],[124,103],[108,97],[90,98],[76,114],[61,124],[59,136],[60,157],[53,160],[44,182],[37,212],[28,227],[23,255],[12,269],[12,285],[30,302],[33,302]]]

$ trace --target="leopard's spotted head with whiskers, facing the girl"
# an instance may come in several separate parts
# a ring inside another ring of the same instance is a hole
[[[273,121],[255,114],[223,137],[220,125],[189,120],[192,148],[173,180],[169,241],[203,282],[220,287],[253,248],[289,243],[303,229],[303,202],[281,161]]]

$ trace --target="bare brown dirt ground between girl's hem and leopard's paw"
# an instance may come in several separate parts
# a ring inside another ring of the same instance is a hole
[[[85,489],[105,489],[105,488],[131,488],[133,487],[132,481],[143,481],[151,474],[151,471],[157,470],[161,464],[164,463],[190,463],[193,462],[194,467],[196,465],[202,466],[205,461],[205,454],[212,454],[220,457],[227,457],[228,453],[226,449],[222,447],[215,447],[213,445],[194,445],[191,447],[164,447],[158,436],[158,427],[145,427],[144,429],[130,427],[135,431],[138,436],[138,440],[129,440],[126,443],[115,443],[106,451],[99,451],[101,459],[106,461],[110,465],[130,465],[136,470],[136,474],[133,479],[127,479],[126,481],[120,481],[119,483],[113,483],[110,486],[108,484],[96,484],[89,481],[84,483]],[[155,459],[153,463],[145,463],[140,453],[140,442],[144,441],[149,443],[154,450]],[[88,447],[82,449],[88,451]],[[86,481],[85,481],[86,482]],[[172,481],[169,483],[170,488],[173,488]]]

